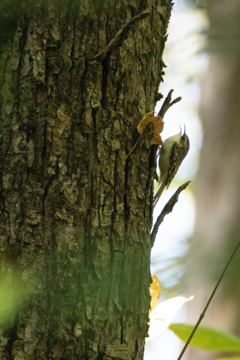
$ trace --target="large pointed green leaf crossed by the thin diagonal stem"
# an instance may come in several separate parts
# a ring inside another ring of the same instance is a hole
[[[171,324],[172,330],[182,341],[186,342],[195,325]],[[240,351],[240,338],[210,327],[199,326],[190,345],[204,350]]]

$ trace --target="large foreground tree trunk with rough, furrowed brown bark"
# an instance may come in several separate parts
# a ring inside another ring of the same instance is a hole
[[[0,7],[1,269],[28,289],[0,359],[142,359],[156,149],[142,136],[126,155],[171,1]]]

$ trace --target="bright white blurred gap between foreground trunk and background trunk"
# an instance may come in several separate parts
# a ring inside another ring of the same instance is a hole
[[[162,139],[165,140],[168,136],[177,134],[180,131],[179,125],[184,129],[185,124],[190,140],[190,150],[169,189],[164,190],[155,208],[154,223],[178,186],[187,180],[194,179],[198,168],[198,155],[202,141],[201,124],[198,118],[199,82],[204,76],[208,62],[208,56],[204,53],[206,38],[203,35],[207,27],[208,19],[202,11],[187,6],[183,0],[175,3],[163,53],[167,68],[165,68],[164,83],[160,85],[160,92],[165,98],[168,91],[174,89],[172,98],[182,96],[182,100],[173,105],[164,116]],[[157,104],[156,112],[159,111],[162,101]],[[180,194],[172,213],[164,218],[151,251],[151,273],[158,276],[163,287],[160,301],[170,297],[166,289],[176,285],[178,281],[176,272],[171,269],[171,259],[187,253],[187,239],[193,233],[195,204],[191,192],[192,186],[194,186],[194,181]],[[181,274],[181,269],[179,273]],[[174,322],[185,321],[184,307]],[[160,358],[176,360],[182,347],[183,343],[167,329],[146,343],[144,360]]]

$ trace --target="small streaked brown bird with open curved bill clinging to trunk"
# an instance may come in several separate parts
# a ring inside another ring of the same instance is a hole
[[[181,129],[181,128],[180,128]],[[184,134],[181,135],[181,131],[177,135],[170,136],[167,138],[161,149],[159,154],[159,184],[161,184],[158,192],[154,196],[153,207],[156,206],[160,196],[164,188],[168,188],[171,184],[173,177],[177,174],[179,166],[181,165],[183,159],[187,155],[189,150],[189,138],[185,133],[184,126]]]

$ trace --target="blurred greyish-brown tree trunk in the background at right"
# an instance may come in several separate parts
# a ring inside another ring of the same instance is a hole
[[[240,1],[207,1],[207,14],[209,66],[200,103],[204,134],[187,266],[187,281],[195,295],[189,304],[191,323],[198,319],[240,239]],[[240,335],[239,261],[238,252],[203,320],[236,335]],[[189,349],[188,354],[187,359],[212,359],[205,351]]]

